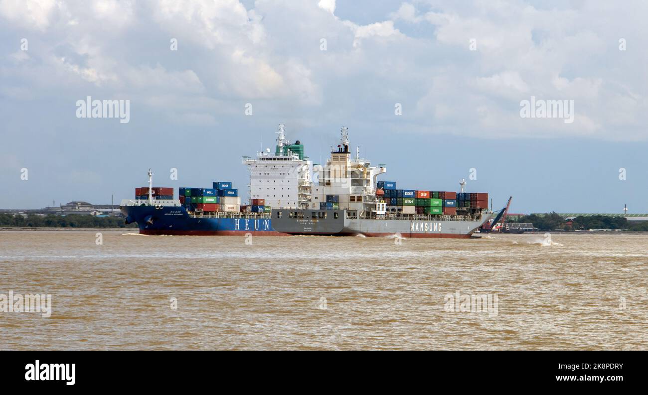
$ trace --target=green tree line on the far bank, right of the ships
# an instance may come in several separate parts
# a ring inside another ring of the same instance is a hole
[[[648,221],[628,221],[625,217],[577,216],[570,224],[555,212],[520,216],[512,222],[533,223],[533,226],[540,229],[540,231],[589,231],[590,229],[648,231]]]

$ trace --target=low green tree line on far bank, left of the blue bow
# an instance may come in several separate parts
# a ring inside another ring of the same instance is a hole
[[[95,217],[81,214],[69,214],[57,216],[48,214],[27,214],[27,216],[0,214],[0,227],[50,227],[50,228],[132,228],[137,227],[136,223],[126,225],[124,218],[119,217]]]

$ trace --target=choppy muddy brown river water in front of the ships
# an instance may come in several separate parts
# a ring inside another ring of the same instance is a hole
[[[100,232],[0,231],[0,294],[52,297],[2,349],[648,348],[648,234]]]

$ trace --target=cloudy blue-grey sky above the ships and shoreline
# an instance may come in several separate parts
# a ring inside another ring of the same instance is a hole
[[[240,157],[284,122],[315,163],[347,126],[402,188],[465,177],[515,212],[648,212],[646,15],[644,1],[0,0],[0,207],[132,198],[149,167],[158,186],[246,191]],[[87,96],[129,100],[130,121],[76,117]],[[573,100],[573,122],[521,117],[532,96]]]

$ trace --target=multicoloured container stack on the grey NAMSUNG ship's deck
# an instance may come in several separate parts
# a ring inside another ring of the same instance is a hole
[[[456,215],[457,209],[488,208],[488,194],[483,193],[396,189],[394,181],[378,181],[376,186],[384,192],[387,210],[392,213]]]

